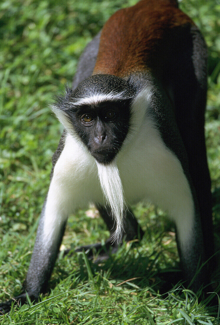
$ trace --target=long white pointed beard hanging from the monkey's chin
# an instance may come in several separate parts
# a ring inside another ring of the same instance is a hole
[[[116,221],[114,240],[120,242],[122,239],[125,202],[119,170],[115,161],[107,165],[97,162],[97,167],[102,191]]]

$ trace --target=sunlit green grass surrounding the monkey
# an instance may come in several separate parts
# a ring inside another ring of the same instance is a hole
[[[135,2],[0,2],[1,301],[18,295],[25,279],[52,153],[62,132],[49,102],[64,83],[71,85],[84,46],[110,15]],[[220,247],[220,1],[183,0],[181,8],[201,28],[209,47],[206,139]],[[0,317],[0,324],[219,324],[218,311],[198,302],[192,292],[165,287],[170,281],[164,271],[175,274],[178,269],[173,228],[165,214],[141,204],[134,211],[146,230],[142,245],[124,244],[101,264],[82,253],[61,254],[42,302],[13,308]],[[79,211],[69,219],[63,248],[108,235],[101,219]],[[218,274],[213,281],[219,281]]]

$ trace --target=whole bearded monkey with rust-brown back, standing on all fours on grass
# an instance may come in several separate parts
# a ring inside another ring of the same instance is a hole
[[[214,239],[206,92],[206,44],[175,0],[141,0],[110,17],[79,59],[72,88],[52,105],[64,132],[16,301],[46,292],[67,218],[90,202],[114,247],[143,236],[132,204],[161,207],[175,224],[184,279],[195,292],[207,283]]]

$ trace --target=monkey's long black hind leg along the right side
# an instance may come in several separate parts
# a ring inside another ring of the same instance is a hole
[[[214,256],[214,235],[212,220],[211,179],[207,164],[204,112],[207,92],[207,50],[204,40],[196,29],[191,28],[192,49],[188,68],[183,67],[187,76],[181,73],[175,89],[175,106],[178,107],[176,119],[187,151],[188,170],[199,206],[205,260],[213,270],[216,266]],[[187,96],[185,96],[187,94]],[[184,113],[183,113],[184,112]]]

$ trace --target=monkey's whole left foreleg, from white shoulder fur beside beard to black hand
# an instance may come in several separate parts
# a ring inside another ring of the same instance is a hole
[[[33,301],[47,290],[67,217],[75,209],[85,208],[89,202],[102,202],[102,198],[94,159],[68,135],[61,154],[54,162],[31,263],[23,285],[24,292],[14,300],[25,303],[27,293]],[[14,300],[1,304],[0,311],[9,311]]]

